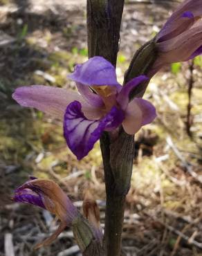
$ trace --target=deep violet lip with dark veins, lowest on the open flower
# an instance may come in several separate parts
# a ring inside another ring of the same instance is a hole
[[[74,101],[64,115],[64,137],[73,154],[80,160],[86,156],[100,138],[102,131],[118,127],[124,119],[122,110],[113,107],[104,118],[88,120],[82,112],[82,104]]]

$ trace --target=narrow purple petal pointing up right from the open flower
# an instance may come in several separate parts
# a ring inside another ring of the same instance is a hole
[[[139,75],[138,77],[135,77],[134,79],[127,82],[127,84],[122,87],[122,90],[120,93],[118,93],[117,96],[117,102],[120,104],[122,110],[127,109],[127,105],[129,104],[129,94],[131,91],[134,90],[136,86],[140,85],[142,82],[147,81],[148,79],[149,78],[145,75]]]

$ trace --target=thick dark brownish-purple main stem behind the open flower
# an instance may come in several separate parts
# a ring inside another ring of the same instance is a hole
[[[116,66],[124,0],[88,0],[89,57],[100,55]],[[122,129],[104,132],[100,139],[107,194],[104,228],[105,255],[120,255],[125,196],[129,190],[134,158],[134,136]]]

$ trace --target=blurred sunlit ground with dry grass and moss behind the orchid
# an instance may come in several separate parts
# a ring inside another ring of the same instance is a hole
[[[128,0],[117,75],[154,37],[180,1]],[[66,78],[87,60],[85,0],[0,0],[0,255],[80,255],[68,228],[48,248],[33,244],[57,221],[44,210],[12,203],[28,175],[53,179],[78,208],[89,188],[104,220],[100,146],[82,161],[66,147],[62,123],[11,98],[17,86],[75,89]],[[136,156],[123,230],[127,255],[202,255],[202,57],[176,63],[150,82],[145,98],[158,117],[136,134]],[[10,248],[10,251],[8,250]]]

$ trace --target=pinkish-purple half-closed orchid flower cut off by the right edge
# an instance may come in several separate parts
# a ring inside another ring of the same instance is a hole
[[[178,6],[156,36],[158,58],[149,77],[162,66],[184,62],[202,53],[202,1],[187,0]]]

